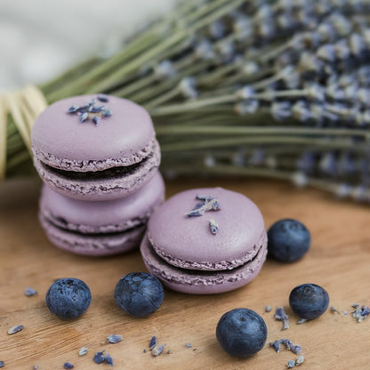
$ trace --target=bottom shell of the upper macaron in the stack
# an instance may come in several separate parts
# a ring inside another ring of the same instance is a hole
[[[133,173],[99,180],[68,179],[48,170],[36,157],[34,165],[43,181],[62,196],[87,201],[112,200],[132,194],[155,176],[161,157],[157,141],[154,150]]]

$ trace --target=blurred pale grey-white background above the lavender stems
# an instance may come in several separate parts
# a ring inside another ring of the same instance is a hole
[[[0,0],[0,93],[116,51],[179,0]]]

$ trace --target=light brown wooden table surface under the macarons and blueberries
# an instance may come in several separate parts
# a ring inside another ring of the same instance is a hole
[[[369,369],[370,318],[358,323],[351,304],[370,305],[370,207],[340,202],[314,189],[295,189],[279,181],[181,180],[167,181],[166,196],[184,189],[216,186],[251,197],[260,206],[266,227],[281,218],[296,218],[311,231],[310,252],[292,264],[267,261],[248,286],[227,294],[197,296],[165,291],[165,301],[149,318],[133,318],[119,310],[113,298],[120,277],[146,270],[139,252],[109,258],[87,258],[51,245],[37,221],[36,181],[12,181],[0,186],[0,360],[6,369],[107,368],[93,362],[98,350],[108,350],[117,369],[284,369],[296,356],[276,353],[269,342],[288,338],[302,346],[302,369]],[[44,295],[58,277],[78,277],[90,286],[93,301],[83,316],[63,321],[44,304]],[[302,283],[324,286],[341,314],[327,310],[316,320],[296,325],[288,306],[292,288]],[[35,296],[24,294],[31,286]],[[265,312],[265,305],[272,307]],[[274,319],[284,306],[291,326],[284,332]],[[221,315],[239,307],[260,313],[269,334],[265,347],[252,358],[232,358],[221,350],[215,328]],[[348,315],[342,311],[347,310]],[[11,326],[24,329],[13,335]],[[123,341],[107,344],[109,334]],[[157,335],[166,343],[157,358],[143,349]],[[190,342],[192,348],[186,348]],[[82,346],[89,349],[78,356]],[[172,350],[167,354],[166,350]]]

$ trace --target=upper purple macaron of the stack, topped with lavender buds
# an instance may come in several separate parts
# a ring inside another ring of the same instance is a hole
[[[55,102],[36,118],[31,141],[43,181],[75,199],[125,197],[153,178],[160,163],[148,112],[109,95]]]

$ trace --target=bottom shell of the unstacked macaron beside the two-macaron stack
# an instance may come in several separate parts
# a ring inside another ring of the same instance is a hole
[[[141,255],[150,274],[159,278],[167,288],[187,294],[218,294],[245,286],[258,275],[266,260],[267,235],[264,234],[252,261],[230,270],[211,272],[174,267],[157,256],[148,235],[141,242]]]

